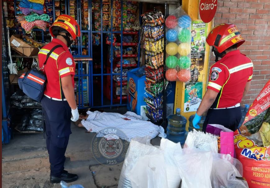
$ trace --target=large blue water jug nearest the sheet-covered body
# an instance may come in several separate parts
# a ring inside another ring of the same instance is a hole
[[[167,139],[172,142],[180,142],[183,146],[185,143],[185,125],[186,118],[181,115],[181,109],[176,108],[176,114],[170,115],[168,117],[168,126],[167,126]]]

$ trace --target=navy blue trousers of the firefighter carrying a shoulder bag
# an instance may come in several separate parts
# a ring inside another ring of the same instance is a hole
[[[67,101],[54,101],[46,96],[43,96],[41,104],[51,175],[59,177],[64,170],[66,147],[71,134],[71,108]]]

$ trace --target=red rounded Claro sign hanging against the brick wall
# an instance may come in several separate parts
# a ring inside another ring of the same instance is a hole
[[[200,0],[199,14],[205,23],[210,22],[217,12],[217,0]]]

